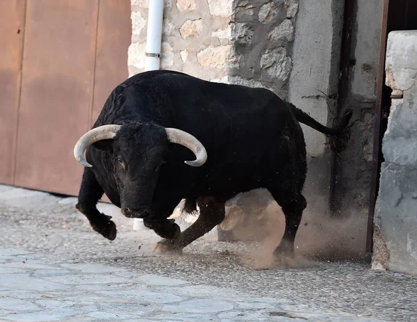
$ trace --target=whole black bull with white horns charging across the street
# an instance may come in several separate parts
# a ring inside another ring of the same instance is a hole
[[[293,254],[306,208],[299,122],[329,136],[340,151],[351,116],[345,111],[329,128],[263,88],[211,83],[180,72],[137,74],[111,92],[93,126],[96,133],[85,134],[74,148],[86,166],[76,208],[96,232],[113,240],[115,224],[96,207],[106,193],[124,216],[143,218],[163,237],[161,251],[181,251],[222,222],[227,200],[266,188],[286,221],[275,253]],[[184,163],[194,154],[196,161]],[[197,204],[200,209],[183,232],[167,219],[182,199],[185,211],[195,211]]]

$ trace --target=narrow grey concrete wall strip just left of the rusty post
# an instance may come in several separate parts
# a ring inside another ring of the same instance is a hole
[[[375,81],[379,63],[382,1],[357,0],[350,54],[347,102],[353,109],[352,136],[337,173],[338,208],[366,227],[370,193],[375,111]],[[363,231],[365,233],[365,231]]]

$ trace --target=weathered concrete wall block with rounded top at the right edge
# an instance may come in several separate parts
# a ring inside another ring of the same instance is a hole
[[[417,274],[417,31],[389,34],[386,85],[394,95],[375,209],[374,268]]]

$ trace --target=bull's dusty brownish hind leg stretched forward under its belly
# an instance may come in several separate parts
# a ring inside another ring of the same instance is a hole
[[[155,251],[159,253],[181,252],[196,239],[210,232],[216,225],[222,223],[225,209],[224,202],[213,200],[198,200],[200,214],[195,223],[181,232],[179,238],[163,239],[156,245]]]

